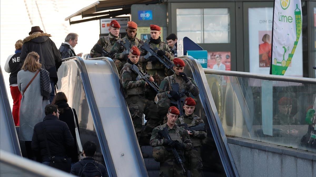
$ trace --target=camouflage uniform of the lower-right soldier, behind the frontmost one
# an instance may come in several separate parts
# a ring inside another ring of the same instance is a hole
[[[200,123],[204,123],[204,121],[195,114],[191,114],[190,116],[183,115],[179,117],[176,121],[176,124],[186,123],[188,127],[198,125]],[[189,167],[191,169],[191,176],[203,176],[202,174],[202,157],[201,157],[201,146],[202,139],[205,139],[207,134],[205,131],[194,131],[193,134],[190,135],[190,139],[193,143],[193,149],[186,153],[188,158],[188,163],[190,163]]]

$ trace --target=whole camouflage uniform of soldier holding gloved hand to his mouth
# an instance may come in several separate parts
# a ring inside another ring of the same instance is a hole
[[[158,100],[158,111],[161,113],[161,115],[165,116],[167,114],[168,108],[170,106],[178,106],[178,105],[170,105],[170,99],[173,100],[173,98],[168,98],[168,91],[173,90],[171,85],[178,83],[179,84],[179,92],[181,98],[186,98],[190,96],[190,93],[193,96],[197,96],[199,94],[199,90],[197,88],[197,84],[195,81],[188,77],[189,82],[185,83],[185,81],[176,74],[173,74],[172,76],[167,76],[164,78],[164,80],[161,82],[159,87],[159,93],[157,94]],[[175,101],[175,100],[173,100]],[[182,108],[180,108],[182,109]],[[164,117],[164,123],[166,123],[166,116]]]

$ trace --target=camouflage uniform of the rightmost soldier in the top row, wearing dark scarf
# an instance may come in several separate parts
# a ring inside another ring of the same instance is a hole
[[[174,59],[173,53],[171,52],[169,46],[166,43],[160,42],[158,44],[155,44],[155,43],[149,41],[148,44],[149,44],[150,48],[153,49],[155,52],[157,52],[158,50],[164,50],[165,55],[169,60],[172,61]],[[144,56],[141,56],[139,58],[139,61],[145,62],[147,74],[149,74],[150,76],[152,76],[155,79],[155,82],[157,83],[158,86],[160,85],[161,81],[166,76],[170,76],[173,74],[173,72],[170,72],[166,68],[166,66],[164,66],[159,61],[156,61],[155,63],[153,63],[152,61],[145,59]]]

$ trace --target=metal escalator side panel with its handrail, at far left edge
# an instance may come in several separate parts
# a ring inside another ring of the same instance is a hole
[[[8,94],[0,68],[0,149],[22,156],[15,124],[11,113]]]

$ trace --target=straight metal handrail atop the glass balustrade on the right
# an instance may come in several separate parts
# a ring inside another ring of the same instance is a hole
[[[235,76],[235,77],[249,77],[255,79],[264,79],[271,81],[285,81],[285,82],[295,82],[295,83],[309,83],[316,84],[316,79],[307,77],[289,77],[289,76],[279,76],[271,74],[258,74],[250,72],[240,72],[240,71],[223,71],[215,70],[210,68],[203,68],[205,74],[216,74],[222,76]]]

